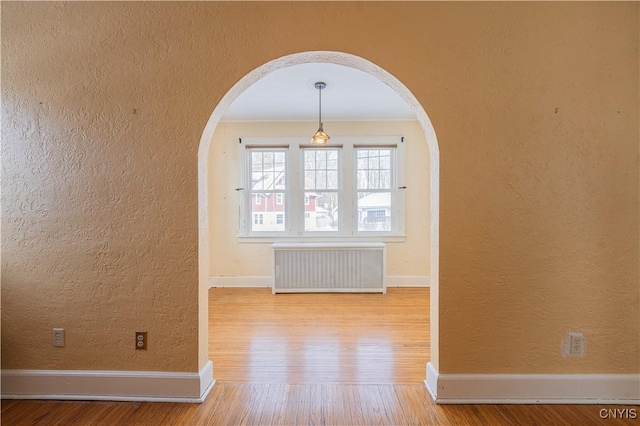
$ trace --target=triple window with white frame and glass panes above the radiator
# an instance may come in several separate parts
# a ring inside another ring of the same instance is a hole
[[[400,137],[334,136],[326,147],[307,137],[241,141],[240,237],[402,241]]]

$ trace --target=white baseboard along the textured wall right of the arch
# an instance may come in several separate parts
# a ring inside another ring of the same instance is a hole
[[[640,404],[640,374],[438,374],[425,385],[438,404]]]

